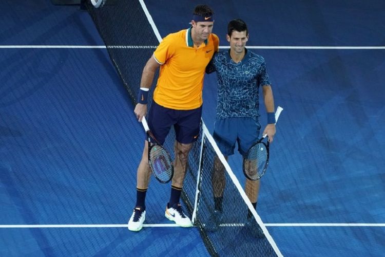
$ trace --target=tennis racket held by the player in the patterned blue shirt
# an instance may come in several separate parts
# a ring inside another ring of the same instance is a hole
[[[279,115],[281,114],[283,108],[278,106],[275,113],[275,120],[278,121]],[[263,135],[256,143],[254,143],[248,150],[243,158],[243,174],[246,178],[251,180],[260,179],[266,172],[268,166],[268,147],[269,141],[263,142],[267,134]]]

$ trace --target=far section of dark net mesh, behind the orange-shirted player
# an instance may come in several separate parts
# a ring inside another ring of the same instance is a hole
[[[107,0],[99,8],[94,8],[90,1],[85,5],[130,99],[136,104],[143,67],[159,44],[139,1]],[[157,78],[158,74],[152,89]],[[152,92],[148,99],[152,99]]]

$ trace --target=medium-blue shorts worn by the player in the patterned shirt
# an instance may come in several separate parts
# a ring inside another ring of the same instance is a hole
[[[258,140],[261,124],[254,118],[217,119],[214,123],[214,139],[225,156],[233,155],[235,143],[244,156]]]

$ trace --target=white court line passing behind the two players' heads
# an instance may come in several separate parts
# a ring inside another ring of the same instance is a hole
[[[0,45],[0,48],[126,48],[126,49],[148,49],[157,46],[74,46],[74,45]],[[221,49],[228,49],[229,46],[220,46]],[[379,50],[385,46],[247,46],[249,49],[345,49],[345,50]]]

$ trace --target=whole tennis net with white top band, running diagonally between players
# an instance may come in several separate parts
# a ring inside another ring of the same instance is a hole
[[[130,99],[136,104],[141,71],[153,50],[161,41],[143,1],[106,0],[95,8],[86,7],[107,47],[113,65],[125,85]],[[154,82],[157,81],[157,76]],[[155,85],[152,85],[152,89]],[[150,96],[152,90],[150,91]],[[152,99],[152,97],[149,97]],[[175,132],[171,130],[164,146],[174,155]],[[174,157],[174,156],[172,156]],[[213,191],[219,187],[213,180],[214,163],[225,168],[225,188],[222,213],[214,213]],[[218,150],[203,120],[199,140],[189,154],[188,169],[182,199],[199,228],[208,252],[213,256],[281,256],[273,238],[247,199],[236,176]],[[247,210],[253,212],[254,226],[246,226]],[[217,225],[210,228],[210,225]],[[258,224],[258,225],[257,225]],[[263,230],[263,234],[259,233]]]

